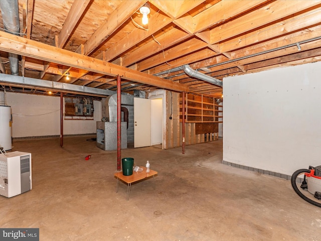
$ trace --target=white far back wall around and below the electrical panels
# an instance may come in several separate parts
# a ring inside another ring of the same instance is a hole
[[[60,135],[60,97],[7,92],[12,108],[12,137]],[[96,133],[101,102],[94,101],[94,120],[64,120],[64,135]]]

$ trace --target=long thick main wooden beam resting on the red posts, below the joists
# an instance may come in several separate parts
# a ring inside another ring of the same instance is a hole
[[[77,54],[51,45],[38,43],[6,32],[0,32],[0,50],[20,54],[31,58],[50,61],[70,67],[80,68],[110,76],[122,76],[123,79],[154,85],[175,91],[188,91],[188,87],[171,80],[128,69],[116,64]]]

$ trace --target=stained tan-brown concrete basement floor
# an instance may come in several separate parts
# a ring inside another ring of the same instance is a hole
[[[153,180],[116,193],[116,151],[89,136],[14,141],[32,153],[33,189],[0,196],[0,227],[37,227],[40,240],[321,240],[321,209],[290,182],[221,164],[222,140],[122,150],[149,160]],[[89,161],[85,156],[92,155]]]

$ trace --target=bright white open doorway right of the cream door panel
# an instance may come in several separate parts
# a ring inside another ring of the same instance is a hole
[[[151,99],[151,145],[163,143],[163,99]]]

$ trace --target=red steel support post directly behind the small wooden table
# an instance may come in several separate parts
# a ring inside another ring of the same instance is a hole
[[[119,74],[117,75],[117,171],[120,171],[121,158],[121,81]]]

